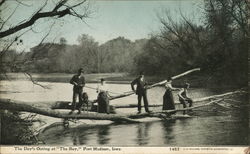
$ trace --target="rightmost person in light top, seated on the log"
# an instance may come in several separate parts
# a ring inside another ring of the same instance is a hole
[[[189,107],[192,107],[192,105],[193,105],[193,100],[190,97],[188,97],[188,88],[189,88],[189,86],[190,86],[190,84],[186,83],[184,88],[182,88],[181,91],[178,94],[179,101],[183,105],[183,108],[187,107],[186,103],[189,104]],[[186,114],[186,112],[183,111],[183,114]]]

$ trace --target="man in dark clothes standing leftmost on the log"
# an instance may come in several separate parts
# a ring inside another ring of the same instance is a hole
[[[74,110],[76,109],[76,98],[78,96],[79,99],[79,104],[83,103],[83,87],[85,86],[85,78],[84,78],[84,71],[82,68],[80,68],[78,70],[78,73],[76,75],[74,75],[71,80],[70,80],[70,84],[74,85],[73,86],[73,102],[72,102],[72,108],[71,108],[71,113],[74,112]]]

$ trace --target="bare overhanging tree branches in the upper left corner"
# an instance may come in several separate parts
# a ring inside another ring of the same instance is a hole
[[[11,8],[9,11],[9,15],[3,16],[1,12],[9,10],[9,3],[15,4],[16,7]],[[31,15],[31,17],[25,17],[23,21],[13,25],[13,23],[8,23],[10,19],[14,16],[18,16],[17,9],[18,7],[26,7],[27,9],[33,10],[32,6],[28,4],[28,2],[15,0],[15,1],[6,1],[0,0],[0,65],[1,66],[9,66],[11,68],[20,68],[21,65],[28,63],[25,59],[24,61],[17,60],[18,58],[14,58],[15,61],[11,63],[4,62],[4,55],[11,48],[15,48],[17,44],[23,43],[21,36],[25,35],[27,32],[32,31],[34,35],[37,33],[34,30],[34,27],[37,26],[37,23],[40,24],[39,20],[50,18],[54,21],[57,19],[63,19],[66,16],[73,16],[85,22],[85,19],[90,16],[92,13],[90,11],[89,2],[87,0],[56,0],[56,1],[42,1],[42,5],[38,8],[37,11]],[[49,5],[50,4],[50,5]],[[34,4],[37,5],[37,4]],[[52,31],[52,27],[55,24],[53,22],[49,26],[49,30],[47,33],[41,38],[40,45],[43,44],[45,39],[49,36]],[[17,57],[19,54],[16,55]],[[35,60],[35,59],[34,59]],[[1,73],[5,73],[6,70],[1,67]],[[19,69],[20,71],[21,69]],[[31,74],[28,71],[24,71],[24,73],[30,77],[30,80],[37,84],[36,81],[32,78]]]

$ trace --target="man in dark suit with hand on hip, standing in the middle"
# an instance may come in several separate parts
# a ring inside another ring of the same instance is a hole
[[[135,80],[133,80],[131,82],[131,88],[132,90],[136,93],[136,95],[138,96],[138,114],[141,113],[141,98],[143,98],[143,102],[144,102],[144,107],[145,107],[145,111],[150,113],[151,111],[149,111],[148,109],[148,99],[147,99],[147,89],[146,89],[146,81],[144,79],[144,73],[140,72],[139,77],[137,77]],[[134,88],[134,85],[136,85],[136,90]]]

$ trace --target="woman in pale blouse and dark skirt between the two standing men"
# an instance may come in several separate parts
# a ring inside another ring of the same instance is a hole
[[[98,85],[96,92],[98,93],[97,96],[97,112],[98,113],[110,113],[109,110],[109,93],[108,87],[105,83],[104,79],[101,79],[101,83]]]

